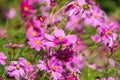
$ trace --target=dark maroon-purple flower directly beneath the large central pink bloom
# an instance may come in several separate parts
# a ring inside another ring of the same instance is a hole
[[[64,50],[59,50],[55,54],[56,58],[65,62],[69,62],[73,58],[74,52],[69,48],[65,48]]]

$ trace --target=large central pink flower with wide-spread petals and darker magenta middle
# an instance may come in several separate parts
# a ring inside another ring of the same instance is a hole
[[[70,45],[74,44],[77,40],[75,35],[65,36],[65,32],[62,29],[54,30],[54,35],[45,34],[45,38],[51,42],[47,42],[47,46],[54,47],[59,44]]]

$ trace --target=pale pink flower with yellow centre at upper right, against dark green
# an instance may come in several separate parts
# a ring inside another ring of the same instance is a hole
[[[103,25],[105,13],[99,8],[99,6],[95,5],[90,10],[91,14],[86,16],[85,25],[92,25],[93,27]]]

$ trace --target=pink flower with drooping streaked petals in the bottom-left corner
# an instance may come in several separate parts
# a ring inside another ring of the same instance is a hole
[[[25,76],[24,64],[17,61],[11,61],[10,65],[6,67],[6,72],[10,77],[15,77],[19,80],[20,77]]]

